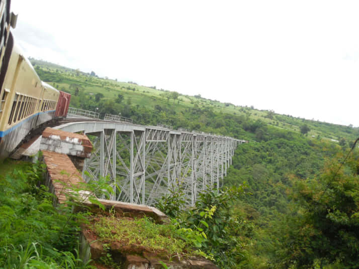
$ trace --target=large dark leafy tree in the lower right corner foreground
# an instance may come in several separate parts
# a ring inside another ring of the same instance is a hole
[[[284,267],[340,263],[356,268],[359,253],[359,155],[326,165],[317,179],[297,181],[293,197],[301,206],[284,232]],[[285,224],[287,225],[287,224]],[[283,247],[283,246],[282,246]]]

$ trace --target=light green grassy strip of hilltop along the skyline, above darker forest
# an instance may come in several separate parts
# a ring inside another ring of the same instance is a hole
[[[52,76],[47,75],[47,82],[54,85],[58,89],[73,92],[74,87],[79,87],[85,93],[96,95],[96,93],[104,94],[104,98],[116,99],[118,94],[122,94],[125,99],[131,99],[133,105],[144,105],[153,107],[155,105],[163,105],[168,102],[166,94],[169,91],[153,89],[146,86],[136,85],[127,82],[118,82],[115,80],[90,77],[89,74],[69,69],[52,63],[31,59],[35,67],[48,72]],[[41,77],[41,75],[40,75]],[[71,86],[72,85],[72,86]],[[135,89],[135,90],[132,90]],[[178,103],[178,100],[180,102]],[[300,131],[303,124],[307,124],[310,128],[309,137],[317,137],[331,141],[331,139],[339,140],[345,138],[353,141],[359,136],[359,128],[352,128],[338,124],[326,122],[306,120],[296,118],[290,115],[281,115],[273,113],[272,117],[268,117],[268,111],[257,110],[250,107],[235,106],[229,103],[221,103],[219,101],[199,98],[195,96],[182,95],[177,100],[170,99],[169,102],[176,103],[174,109],[179,112],[188,107],[198,105],[200,107],[211,107],[214,112],[223,112],[228,114],[236,114],[249,117],[253,120],[261,120],[267,124],[271,124],[278,128],[287,130]]]

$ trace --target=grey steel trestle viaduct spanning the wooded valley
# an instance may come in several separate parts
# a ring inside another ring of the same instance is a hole
[[[245,142],[167,125],[132,124],[109,114],[104,120],[74,114],[62,123],[55,128],[83,132],[93,143],[84,162],[86,181],[107,177],[114,189],[111,200],[146,205],[178,188],[194,205],[200,192],[223,185],[236,147]]]

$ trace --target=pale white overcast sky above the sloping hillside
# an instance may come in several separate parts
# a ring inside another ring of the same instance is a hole
[[[359,126],[358,1],[12,0],[27,56]]]

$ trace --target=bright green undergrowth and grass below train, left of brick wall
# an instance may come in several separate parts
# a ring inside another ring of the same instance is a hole
[[[0,179],[0,268],[86,268],[78,256],[78,220],[71,207],[53,207],[43,166],[8,161]]]

